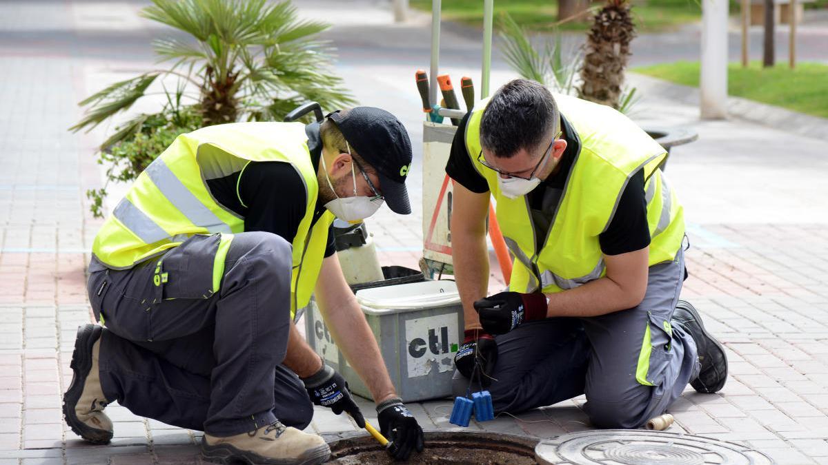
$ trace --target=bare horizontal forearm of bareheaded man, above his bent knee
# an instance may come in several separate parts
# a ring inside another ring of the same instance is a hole
[[[590,317],[630,309],[641,303],[614,280],[607,277],[590,281],[575,289],[546,294],[547,317]]]

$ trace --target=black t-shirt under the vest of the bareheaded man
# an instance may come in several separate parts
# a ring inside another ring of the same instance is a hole
[[[455,140],[451,144],[449,161],[445,165],[445,172],[451,179],[457,181],[472,192],[484,194],[489,192],[489,184],[472,165],[469,152],[465,146],[465,127],[469,114],[460,121],[457,127]],[[566,151],[561,156],[559,168],[544,180],[529,195],[529,205],[532,209],[532,220],[541,231],[548,230],[551,218],[561,199],[561,194],[569,177],[572,163],[580,151],[580,137],[575,128],[561,115],[561,130],[566,139]],[[474,154],[477,156],[477,154]],[[540,236],[540,235],[539,235]],[[546,234],[542,235],[546,237]],[[537,237],[538,242],[543,237]],[[638,170],[629,180],[627,187],[621,194],[618,208],[609,223],[606,231],[598,237],[601,252],[604,255],[619,255],[634,252],[650,245],[650,229],[647,224],[647,200],[644,198],[644,173]],[[542,244],[538,244],[542,246]]]

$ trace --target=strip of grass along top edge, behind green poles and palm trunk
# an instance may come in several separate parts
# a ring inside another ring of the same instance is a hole
[[[410,5],[431,12],[431,0],[410,0]],[[603,2],[593,2],[600,7]],[[556,0],[495,0],[494,22],[498,13],[508,12],[517,24],[534,31],[550,31],[558,21]],[[638,31],[665,31],[687,22],[699,21],[701,2],[698,0],[633,0],[633,17]],[[483,24],[483,0],[443,0],[442,18],[480,26]],[[562,30],[583,31],[585,22],[567,22]]]

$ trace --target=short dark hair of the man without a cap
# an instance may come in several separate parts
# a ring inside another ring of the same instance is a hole
[[[514,79],[489,100],[480,120],[480,143],[493,156],[511,158],[540,146],[559,124],[551,92],[535,81]]]

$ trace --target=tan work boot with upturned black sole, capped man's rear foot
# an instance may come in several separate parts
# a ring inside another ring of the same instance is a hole
[[[72,352],[72,384],[63,395],[63,415],[72,432],[90,443],[105,444],[112,439],[112,421],[103,409],[109,403],[103,396],[98,367],[103,327],[87,324],[78,328]]]

